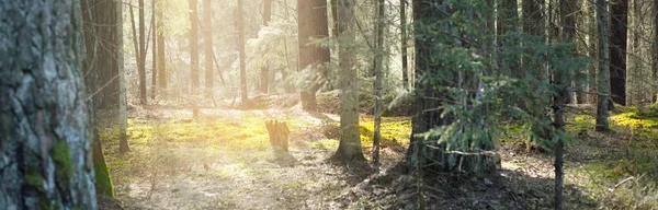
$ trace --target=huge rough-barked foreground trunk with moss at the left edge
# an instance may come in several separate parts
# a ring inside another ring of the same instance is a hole
[[[0,207],[5,209],[97,208],[79,2],[0,3],[0,20],[11,20],[0,23]]]

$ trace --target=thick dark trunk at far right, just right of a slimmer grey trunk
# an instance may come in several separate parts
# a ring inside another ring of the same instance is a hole
[[[610,91],[612,101],[626,105],[626,37],[628,0],[610,5]]]

